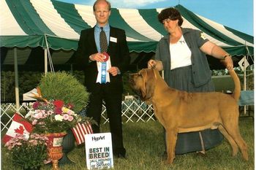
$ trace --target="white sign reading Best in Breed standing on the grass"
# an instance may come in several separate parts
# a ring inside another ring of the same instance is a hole
[[[111,133],[86,134],[87,169],[113,168]]]

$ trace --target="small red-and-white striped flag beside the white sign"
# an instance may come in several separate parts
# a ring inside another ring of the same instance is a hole
[[[83,144],[85,142],[86,134],[94,134],[91,128],[91,123],[89,122],[85,122],[82,124],[78,123],[77,125],[75,125],[74,128],[71,128],[71,130],[75,136],[75,140],[78,145]]]

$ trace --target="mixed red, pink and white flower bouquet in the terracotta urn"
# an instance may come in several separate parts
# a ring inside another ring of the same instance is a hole
[[[72,104],[61,100],[36,101],[33,109],[25,117],[34,125],[33,131],[39,134],[52,134],[67,131],[83,121],[85,117],[72,111]]]

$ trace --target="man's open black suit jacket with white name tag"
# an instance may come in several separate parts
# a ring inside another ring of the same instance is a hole
[[[129,66],[129,49],[125,32],[119,28],[110,26],[110,38],[115,40],[109,41],[107,53],[110,55],[111,66],[117,66],[121,73],[124,73]],[[94,28],[81,31],[80,40],[78,42],[78,50],[75,53],[77,63],[83,67],[85,72],[85,85],[91,93],[97,93],[101,88],[97,80],[97,62],[89,61],[89,56],[98,53],[94,39]],[[104,85],[110,93],[123,93],[123,82],[121,74],[113,77],[110,74],[110,82]]]

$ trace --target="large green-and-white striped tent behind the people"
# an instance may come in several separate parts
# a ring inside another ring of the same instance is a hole
[[[78,47],[80,31],[96,23],[92,6],[56,0],[2,0],[0,7],[1,70],[13,68],[15,47],[19,69],[43,69],[45,53],[50,53],[54,67],[74,68],[72,55]],[[184,18],[182,27],[203,31],[233,55],[235,65],[244,55],[253,63],[253,36],[196,15],[181,5],[176,8]],[[146,66],[157,42],[167,34],[157,20],[161,10],[111,9],[110,25],[126,31],[131,65],[137,69]],[[211,68],[219,66],[214,58],[209,63]]]

